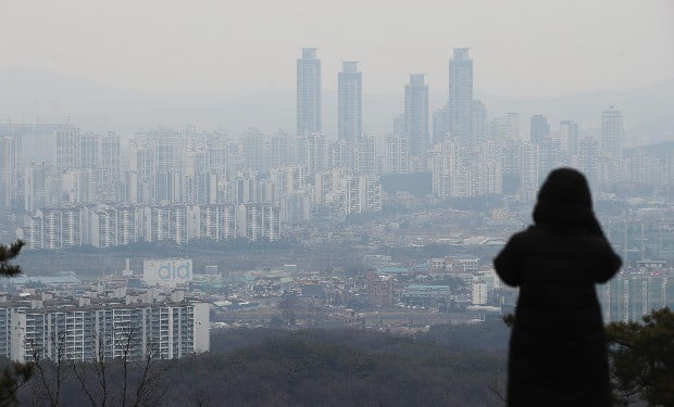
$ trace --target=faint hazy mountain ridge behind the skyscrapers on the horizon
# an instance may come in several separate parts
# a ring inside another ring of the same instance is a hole
[[[325,82],[325,78],[324,78]],[[366,86],[366,85],[365,85]],[[391,94],[370,94],[365,87],[365,130],[390,131],[402,112],[402,87]],[[124,89],[78,76],[40,69],[0,69],[0,122],[72,122],[93,130],[130,133],[157,124],[196,124],[223,127],[238,135],[249,126],[264,131],[295,128],[295,90],[237,93],[162,93]],[[430,89],[430,109],[445,101]],[[512,99],[477,93],[489,117],[517,112],[522,135],[528,135],[528,117],[547,114],[552,127],[561,119],[575,119],[598,127],[608,105],[625,114],[632,144],[674,140],[674,79],[626,90],[591,91],[542,99]],[[323,92],[324,130],[336,133],[337,94]]]

